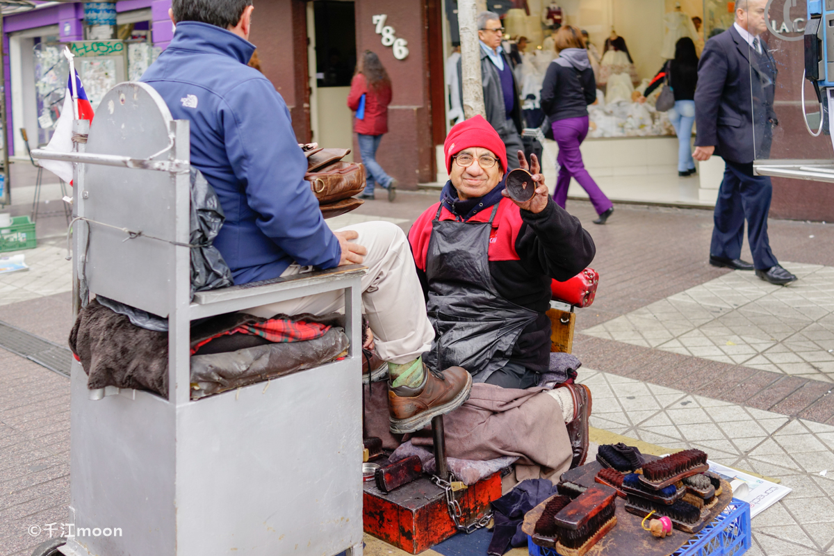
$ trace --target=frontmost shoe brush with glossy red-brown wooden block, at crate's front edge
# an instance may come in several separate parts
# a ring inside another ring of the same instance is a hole
[[[615,488],[595,484],[579,498],[556,513],[559,540],[556,552],[562,556],[582,556],[617,523]]]

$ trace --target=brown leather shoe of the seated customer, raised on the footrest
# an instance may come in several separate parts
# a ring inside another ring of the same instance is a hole
[[[432,418],[459,408],[469,399],[472,376],[462,367],[450,367],[442,373],[423,365],[423,383],[388,389],[388,411],[391,432],[413,433],[425,427]]]

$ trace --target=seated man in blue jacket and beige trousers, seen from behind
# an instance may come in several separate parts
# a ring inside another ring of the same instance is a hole
[[[253,10],[251,0],[173,0],[173,40],[142,80],[173,118],[191,122],[191,163],[223,206],[226,222],[214,245],[236,284],[343,264],[369,268],[362,301],[377,352],[389,362],[391,427],[421,428],[465,401],[470,374],[425,368],[420,355],[435,332],[402,230],[372,222],[334,233],[324,223],[284,99],[246,65],[255,50],[247,40]],[[343,308],[334,292],[247,312],[270,318]]]

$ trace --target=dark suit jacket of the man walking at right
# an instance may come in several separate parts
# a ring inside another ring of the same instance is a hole
[[[706,42],[698,63],[695,120],[699,147],[735,163],[768,158],[776,125],[776,63],[761,43],[757,54],[735,27]]]

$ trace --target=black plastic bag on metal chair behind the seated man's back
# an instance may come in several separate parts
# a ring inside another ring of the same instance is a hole
[[[197,168],[191,167],[191,296],[194,292],[234,285],[232,271],[212,245],[226,216],[217,193]]]

